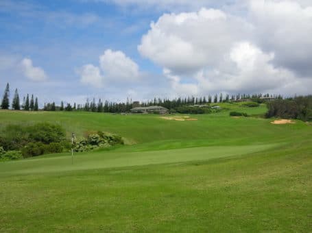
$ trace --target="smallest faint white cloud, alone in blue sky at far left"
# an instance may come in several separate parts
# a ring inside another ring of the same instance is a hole
[[[40,67],[33,66],[32,60],[29,58],[24,58],[21,61],[21,69],[25,77],[34,82],[43,82],[47,79],[45,71]]]

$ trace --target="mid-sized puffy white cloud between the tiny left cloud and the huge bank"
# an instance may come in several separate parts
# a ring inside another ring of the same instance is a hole
[[[80,81],[94,87],[104,84],[131,83],[140,79],[139,66],[122,51],[106,50],[99,56],[99,66],[86,64],[80,71]]]

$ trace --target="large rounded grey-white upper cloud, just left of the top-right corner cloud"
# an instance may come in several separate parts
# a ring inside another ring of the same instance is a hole
[[[250,25],[221,10],[163,14],[142,38],[142,56],[174,73],[217,65],[233,42],[248,36]],[[248,36],[250,37],[250,36]]]

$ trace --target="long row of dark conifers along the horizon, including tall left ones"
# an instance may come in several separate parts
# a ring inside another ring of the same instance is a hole
[[[179,97],[176,99],[160,99],[154,98],[149,101],[143,101],[139,106],[147,107],[147,106],[162,106],[169,110],[178,110],[183,106],[192,106],[192,105],[204,105],[206,103],[221,103],[221,102],[229,102],[229,101],[239,101],[241,99],[250,99],[257,103],[264,103],[265,98],[272,99],[283,99],[280,95],[269,95],[269,94],[237,94],[237,95],[223,95],[222,93],[217,95],[208,95],[204,97]],[[134,104],[132,100],[127,99],[126,102],[116,103],[112,101],[102,101],[99,99],[98,101],[93,98],[92,101],[86,99],[86,103],[76,104],[73,103],[64,103],[61,101],[60,105],[57,106],[53,101],[51,103],[44,103],[42,110],[45,111],[88,111],[88,112],[111,112],[111,113],[120,113],[120,112],[130,112],[132,108],[138,106]],[[12,99],[12,103],[10,105],[10,85],[7,84],[5,87],[5,91],[3,93],[3,99],[1,101],[1,109],[12,109],[12,110],[33,110],[38,111],[38,98],[34,97],[34,95],[26,95],[23,97],[23,101],[21,103],[19,93],[17,88],[14,92],[14,97]]]

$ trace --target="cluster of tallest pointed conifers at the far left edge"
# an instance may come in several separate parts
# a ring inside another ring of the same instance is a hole
[[[3,98],[1,101],[1,109],[9,109],[9,108],[10,108],[10,84],[6,84],[3,93]],[[19,98],[19,91],[16,88],[14,91],[11,108],[12,110],[38,111],[39,110],[38,98],[37,97],[34,98],[34,95],[32,95],[29,98],[29,94],[27,94],[26,97],[23,97],[23,103],[21,104],[21,100]]]

